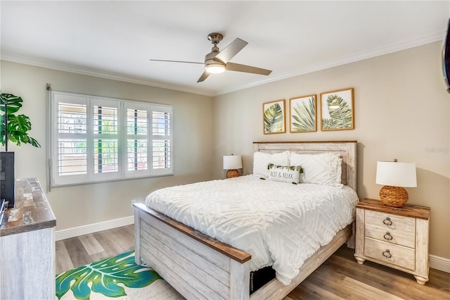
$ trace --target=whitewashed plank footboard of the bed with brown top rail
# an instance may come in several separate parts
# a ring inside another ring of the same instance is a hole
[[[250,254],[134,204],[136,263],[148,263],[186,299],[249,299]]]

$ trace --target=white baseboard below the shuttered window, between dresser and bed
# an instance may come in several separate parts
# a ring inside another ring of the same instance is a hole
[[[108,220],[105,222],[94,223],[79,227],[73,227],[69,229],[63,229],[56,231],[56,240],[70,239],[70,237],[79,237],[80,235],[89,235],[89,233],[99,232],[103,230],[113,229],[116,227],[122,227],[126,225],[134,224],[134,215],[129,217]]]

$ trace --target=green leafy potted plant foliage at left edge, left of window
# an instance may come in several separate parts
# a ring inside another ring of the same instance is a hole
[[[28,135],[31,130],[31,121],[27,115],[15,115],[22,107],[22,98],[13,94],[0,94],[0,143],[5,146],[8,141],[15,142],[18,146],[21,143],[31,144],[35,147],[41,145],[36,139]],[[6,116],[8,117],[8,127],[6,128]],[[7,129],[7,130],[6,130]],[[6,132],[8,132],[6,134]],[[6,148],[7,150],[7,148]]]

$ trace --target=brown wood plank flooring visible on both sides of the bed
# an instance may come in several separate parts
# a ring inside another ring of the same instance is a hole
[[[56,274],[134,249],[134,225],[56,242]],[[356,263],[342,246],[284,300],[300,299],[450,299],[450,274],[430,269],[419,285],[413,275],[383,265]]]

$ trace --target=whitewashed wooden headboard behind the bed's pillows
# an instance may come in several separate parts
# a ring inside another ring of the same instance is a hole
[[[299,154],[330,152],[342,157],[342,184],[356,191],[356,141],[324,142],[253,142],[254,151],[276,153],[291,151]]]

